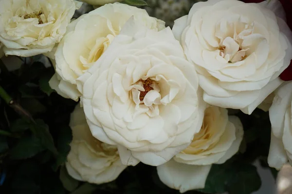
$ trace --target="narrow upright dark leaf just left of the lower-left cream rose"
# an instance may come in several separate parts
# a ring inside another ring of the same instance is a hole
[[[70,143],[72,141],[72,138],[72,130],[69,126],[60,127],[57,139],[57,150],[59,154],[57,156],[55,164],[53,165],[53,169],[55,171],[60,165],[66,162],[67,155],[71,149]]]

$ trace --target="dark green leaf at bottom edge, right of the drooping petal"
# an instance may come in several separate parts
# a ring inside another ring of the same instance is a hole
[[[229,194],[251,194],[261,186],[256,166],[248,163],[237,164],[227,184]]]

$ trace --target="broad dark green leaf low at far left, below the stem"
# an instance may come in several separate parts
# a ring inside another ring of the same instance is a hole
[[[35,156],[45,148],[36,137],[24,137],[10,151],[10,159],[21,160]]]

